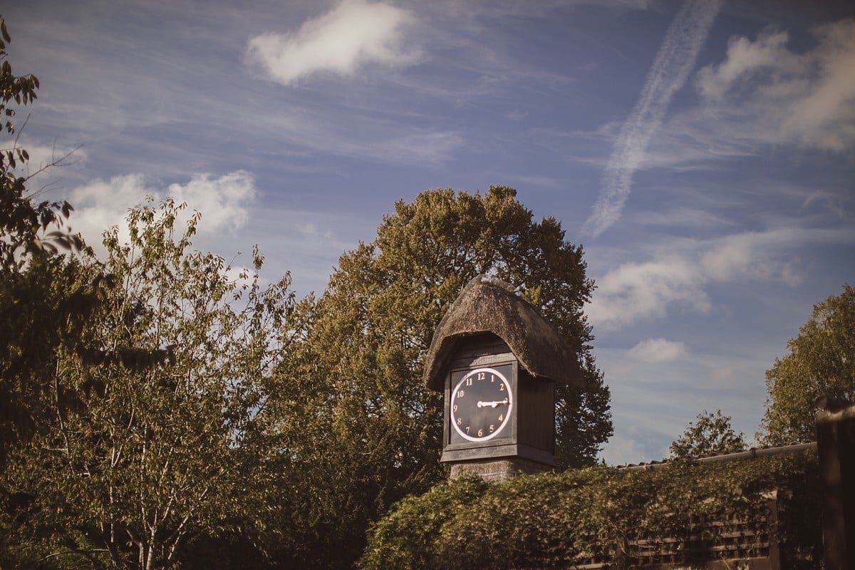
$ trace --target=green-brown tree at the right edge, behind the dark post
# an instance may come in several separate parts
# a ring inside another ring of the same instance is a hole
[[[855,401],[855,287],[844,285],[840,295],[815,304],[787,348],[766,371],[762,428],[769,444],[816,438],[818,398]]]

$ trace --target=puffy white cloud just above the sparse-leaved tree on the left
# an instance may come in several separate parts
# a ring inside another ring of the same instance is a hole
[[[212,235],[233,232],[243,226],[248,218],[247,203],[255,195],[252,175],[238,170],[219,178],[196,174],[185,185],[171,184],[166,188],[148,185],[142,174],[124,174],[78,186],[71,191],[68,201],[75,209],[70,219],[74,231],[81,232],[88,244],[97,246],[110,226],[120,226],[121,235],[127,237],[127,229],[123,227],[127,211],[145,197],[156,201],[173,197],[178,203],[186,202],[188,216],[194,210],[202,214],[199,233]]]

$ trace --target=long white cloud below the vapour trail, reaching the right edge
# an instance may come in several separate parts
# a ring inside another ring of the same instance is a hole
[[[712,305],[705,285],[740,279],[799,285],[804,275],[793,250],[853,243],[852,229],[799,227],[675,243],[651,261],[624,263],[598,277],[587,314],[595,326],[618,329],[661,318],[675,306],[706,313]]]

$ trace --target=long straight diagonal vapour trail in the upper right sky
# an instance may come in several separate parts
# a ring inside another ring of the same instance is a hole
[[[718,10],[720,0],[687,0],[676,15],[647,74],[641,97],[623,123],[603,174],[602,190],[584,231],[597,237],[621,216],[633,174],[662,124],[676,91],[686,83]]]

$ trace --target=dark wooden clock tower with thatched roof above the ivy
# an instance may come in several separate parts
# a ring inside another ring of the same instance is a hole
[[[555,385],[583,388],[575,354],[500,279],[469,281],[433,333],[424,380],[445,394],[451,478],[501,481],[555,467]]]

